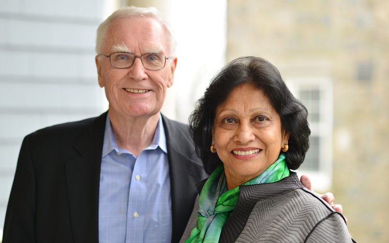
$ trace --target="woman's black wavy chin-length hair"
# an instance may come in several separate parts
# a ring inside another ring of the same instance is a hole
[[[289,169],[297,169],[309,148],[311,130],[307,108],[292,95],[273,64],[260,57],[246,56],[229,62],[212,78],[204,96],[196,102],[195,110],[189,116],[189,132],[206,172],[211,173],[222,163],[218,154],[211,153],[209,149],[216,109],[242,83],[255,85],[270,100],[280,117],[282,128],[290,134],[286,163]]]

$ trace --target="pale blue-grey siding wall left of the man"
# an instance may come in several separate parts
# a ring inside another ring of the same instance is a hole
[[[102,6],[103,0],[0,1],[0,229],[23,137],[103,110],[94,63]]]

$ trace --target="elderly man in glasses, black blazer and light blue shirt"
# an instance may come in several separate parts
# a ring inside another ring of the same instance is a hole
[[[186,125],[160,113],[174,43],[154,8],[122,8],[100,25],[109,110],[26,136],[4,243],[179,241],[206,174]]]

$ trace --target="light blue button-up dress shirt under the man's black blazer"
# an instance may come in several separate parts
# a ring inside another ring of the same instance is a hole
[[[171,197],[160,115],[153,142],[138,158],[118,148],[107,116],[101,159],[99,242],[170,242]]]

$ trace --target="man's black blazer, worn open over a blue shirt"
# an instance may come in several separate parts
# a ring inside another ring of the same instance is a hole
[[[8,202],[3,243],[98,242],[100,164],[107,113],[25,137]],[[172,242],[206,178],[187,126],[162,116],[168,151]]]

